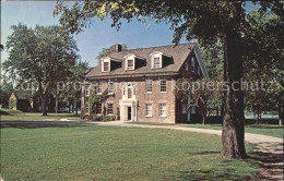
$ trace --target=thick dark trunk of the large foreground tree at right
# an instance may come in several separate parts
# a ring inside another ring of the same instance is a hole
[[[224,90],[221,154],[227,158],[246,158],[244,93],[240,89],[242,56],[240,33],[237,31],[240,24],[241,3],[236,2],[234,7],[236,11],[232,11],[232,20],[224,34],[224,82],[228,86]],[[234,82],[237,83],[233,84]]]

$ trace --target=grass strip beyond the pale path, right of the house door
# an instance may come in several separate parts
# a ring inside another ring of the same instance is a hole
[[[132,122],[134,124],[149,124],[149,125],[178,125],[197,129],[209,129],[209,130],[222,130],[222,124],[164,124],[155,122]],[[270,125],[270,124],[249,124],[246,125],[246,133],[263,134],[274,137],[283,138],[283,125]]]

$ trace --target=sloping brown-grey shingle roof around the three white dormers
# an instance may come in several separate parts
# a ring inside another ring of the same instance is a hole
[[[163,47],[151,47],[151,48],[139,48],[122,50],[120,52],[110,52],[108,57],[122,61],[121,68],[110,72],[102,72],[102,61],[86,75],[86,77],[103,77],[103,76],[115,76],[115,75],[135,75],[135,74],[149,74],[149,73],[174,73],[178,72],[181,64],[188,57],[189,52],[194,47],[194,43],[180,44],[177,46],[163,46]],[[162,69],[151,69],[151,57],[150,55],[154,51],[161,51],[165,55],[171,56],[174,63],[168,64]],[[135,70],[125,69],[125,56],[133,53],[138,57],[146,60],[146,65]]]

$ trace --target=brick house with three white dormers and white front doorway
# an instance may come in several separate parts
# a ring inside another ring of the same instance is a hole
[[[174,88],[180,77],[208,77],[196,43],[116,50],[102,58],[86,76],[82,110],[90,113],[88,96],[107,90],[108,98],[96,105],[96,114],[116,116],[121,121],[190,122],[198,111],[177,100]]]

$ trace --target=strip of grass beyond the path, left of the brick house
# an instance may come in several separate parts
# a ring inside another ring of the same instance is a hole
[[[39,121],[39,120],[55,120],[68,119],[72,121],[80,121],[81,118],[74,113],[48,113],[43,117],[42,112],[22,112],[12,109],[1,109],[5,114],[1,114],[1,121]]]

